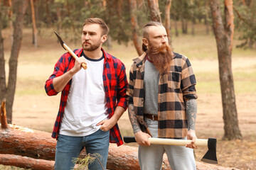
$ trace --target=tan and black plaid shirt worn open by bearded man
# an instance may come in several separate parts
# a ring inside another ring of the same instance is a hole
[[[134,104],[134,112],[142,131],[148,128],[144,123],[144,66],[146,53],[134,59],[129,72],[129,86],[127,89],[128,104]],[[186,137],[188,123],[186,120],[185,102],[196,95],[196,77],[188,58],[174,53],[171,67],[159,79],[158,118],[159,137],[180,139]]]

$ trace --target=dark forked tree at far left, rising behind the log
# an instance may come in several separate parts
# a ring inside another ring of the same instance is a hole
[[[1,2],[1,1],[0,1]],[[1,4],[1,3],[0,3]],[[14,42],[11,46],[11,56],[9,60],[9,79],[6,86],[6,76],[5,76],[5,64],[4,64],[4,42],[0,34],[0,100],[6,98],[6,113],[7,121],[11,123],[12,120],[12,106],[14,103],[14,94],[16,89],[16,79],[17,79],[17,66],[18,66],[18,53],[21,49],[22,40],[22,27],[23,18],[28,6],[28,0],[24,1],[14,1]],[[1,13],[1,11],[0,11]],[[1,28],[1,25],[0,25]]]

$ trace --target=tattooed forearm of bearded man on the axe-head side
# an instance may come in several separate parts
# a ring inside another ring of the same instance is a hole
[[[197,105],[196,99],[186,101],[186,115],[188,120],[188,130],[195,130]]]

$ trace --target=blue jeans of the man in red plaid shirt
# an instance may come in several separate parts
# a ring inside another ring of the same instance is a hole
[[[59,135],[55,152],[55,170],[73,169],[74,159],[78,158],[80,152],[85,147],[87,154],[100,154],[97,159],[89,164],[88,169],[100,170],[102,166],[106,169],[107,155],[110,145],[110,130],[92,133],[84,137],[72,137]],[[100,162],[98,161],[100,159]]]

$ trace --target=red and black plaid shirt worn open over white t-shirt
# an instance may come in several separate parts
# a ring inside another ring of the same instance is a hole
[[[75,54],[80,57],[82,54],[82,48],[74,50]],[[117,106],[121,106],[127,109],[127,101],[126,101],[126,91],[127,91],[127,76],[125,72],[124,64],[118,60],[116,57],[108,54],[102,49],[104,54],[104,70],[103,70],[103,84],[105,89],[105,96],[107,101],[107,113],[109,114],[109,118],[114,114],[114,109]],[[46,81],[45,90],[48,96],[57,95],[58,92],[53,88],[53,79],[55,77],[59,77],[68,70],[74,67],[75,60],[73,57],[67,52],[60,57],[58,62],[55,64],[53,74]],[[58,138],[58,133],[60,130],[61,120],[63,118],[64,109],[68,99],[68,92],[70,90],[72,80],[68,82],[63,91],[61,92],[60,98],[60,108],[58,111],[57,118],[55,120],[55,125],[53,127],[53,138]],[[119,131],[118,125],[114,125],[112,129],[110,129],[110,142],[117,143],[117,146],[122,145],[122,136]]]

